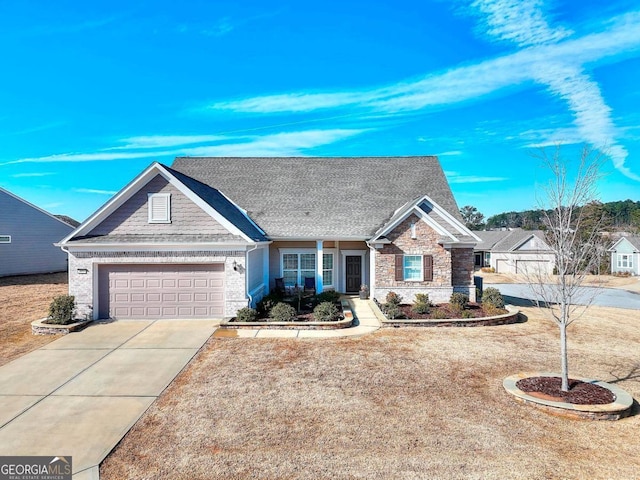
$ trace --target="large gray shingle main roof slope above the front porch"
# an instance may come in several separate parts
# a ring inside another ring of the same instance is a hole
[[[368,239],[423,195],[460,219],[437,157],[180,157],[172,169],[220,190],[271,238]]]

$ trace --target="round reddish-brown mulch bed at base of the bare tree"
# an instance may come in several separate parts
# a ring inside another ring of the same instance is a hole
[[[569,379],[569,391],[562,391],[560,377],[529,377],[516,382],[523,392],[539,398],[574,405],[605,405],[615,401],[615,395],[599,385]]]

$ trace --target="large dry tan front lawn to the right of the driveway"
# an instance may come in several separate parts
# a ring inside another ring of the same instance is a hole
[[[567,420],[504,377],[558,368],[557,329],[386,329],[320,341],[212,338],[101,467],[103,479],[638,478],[640,416]],[[640,329],[593,307],[574,375],[640,398]]]

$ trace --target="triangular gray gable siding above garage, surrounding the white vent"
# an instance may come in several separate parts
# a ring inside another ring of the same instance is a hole
[[[148,193],[171,194],[171,223],[149,223]],[[228,234],[229,232],[188,197],[157,175],[90,235],[109,234]]]

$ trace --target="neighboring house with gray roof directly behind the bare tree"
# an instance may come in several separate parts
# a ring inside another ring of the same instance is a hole
[[[474,232],[481,241],[474,251],[474,266],[493,267],[496,273],[551,274],[555,256],[541,230],[487,230]]]

